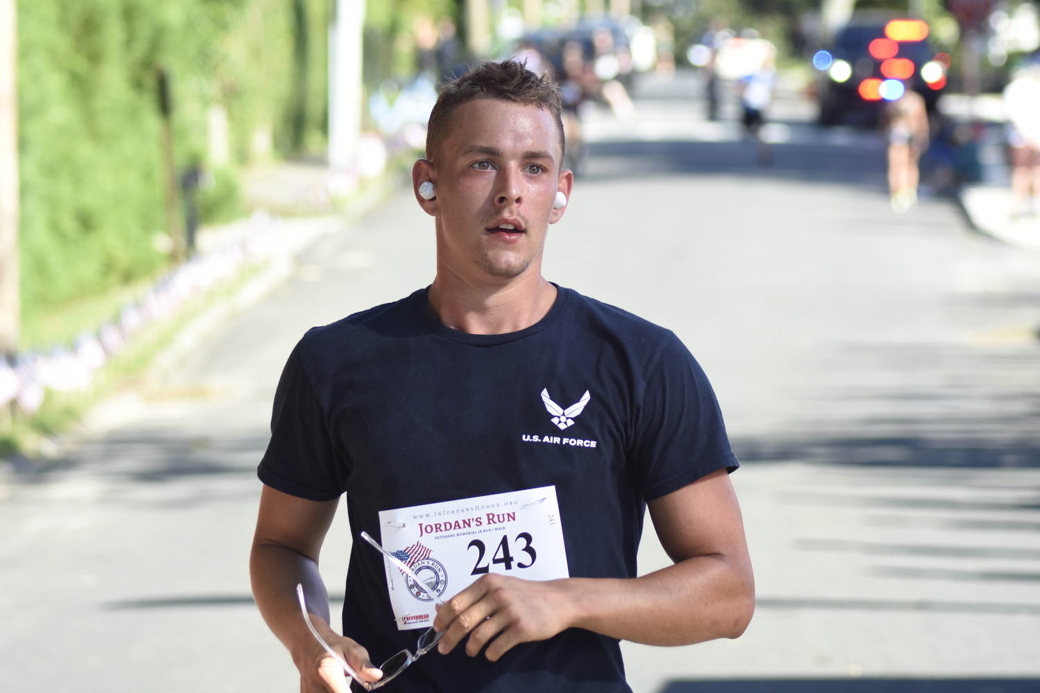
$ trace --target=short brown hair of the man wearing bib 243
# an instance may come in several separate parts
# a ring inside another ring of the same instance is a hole
[[[564,151],[564,122],[561,119],[564,99],[556,83],[539,77],[516,60],[502,60],[482,62],[444,85],[426,126],[427,159],[434,161],[434,153],[444,140],[454,109],[480,99],[501,99],[548,108],[560,130],[560,150]]]

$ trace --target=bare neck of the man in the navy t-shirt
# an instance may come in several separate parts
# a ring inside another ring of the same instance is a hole
[[[438,263],[427,293],[430,310],[443,324],[470,335],[505,335],[530,327],[556,300],[556,287],[542,277],[542,263],[531,263],[504,284],[474,282]]]

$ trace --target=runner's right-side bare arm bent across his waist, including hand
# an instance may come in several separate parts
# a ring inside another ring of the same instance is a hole
[[[651,501],[650,516],[674,565],[631,579],[532,582],[487,575],[440,610],[442,654],[469,634],[466,652],[496,661],[521,642],[568,628],[649,645],[736,638],[755,609],[754,577],[736,494],[719,470]],[[495,637],[497,636],[497,637]]]

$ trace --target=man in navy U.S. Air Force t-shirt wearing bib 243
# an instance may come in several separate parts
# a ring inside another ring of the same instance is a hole
[[[751,619],[737,460],[703,371],[671,331],[542,276],[573,185],[562,107],[516,62],[449,83],[412,171],[433,284],[289,356],[251,574],[301,691],[346,693],[343,659],[362,688],[623,693],[620,639],[735,638]],[[317,564],[343,494],[340,636]],[[675,563],[636,578],[648,507]]]

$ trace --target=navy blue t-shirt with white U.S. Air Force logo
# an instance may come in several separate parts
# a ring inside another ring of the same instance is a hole
[[[564,430],[547,410],[589,393]],[[595,447],[592,446],[595,442]],[[376,664],[398,631],[379,512],[554,485],[572,578],[634,578],[646,502],[736,469],[704,372],[671,331],[561,288],[538,323],[506,335],[441,324],[426,291],[307,332],[285,366],[263,483],[313,501],[347,496],[354,545],[343,633]],[[460,644],[384,689],[628,692],[618,641],[570,629],[498,662]]]

